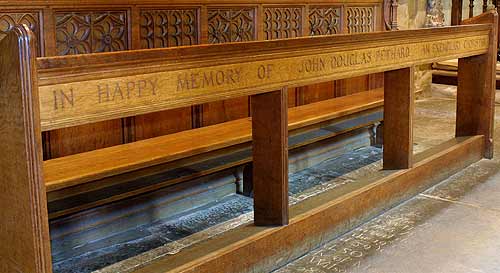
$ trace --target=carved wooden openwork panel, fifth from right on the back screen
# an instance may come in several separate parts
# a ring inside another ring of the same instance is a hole
[[[162,48],[198,44],[197,9],[141,11],[141,47]]]

